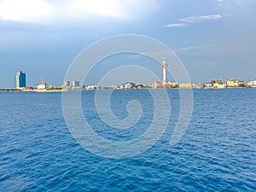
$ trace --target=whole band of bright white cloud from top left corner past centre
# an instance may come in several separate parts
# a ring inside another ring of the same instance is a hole
[[[155,0],[0,0],[0,20],[136,19],[157,8]]]

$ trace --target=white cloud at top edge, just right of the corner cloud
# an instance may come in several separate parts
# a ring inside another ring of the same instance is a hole
[[[58,7],[61,14],[69,18],[102,16],[124,20],[138,19],[157,9],[158,3],[156,0],[66,0]]]

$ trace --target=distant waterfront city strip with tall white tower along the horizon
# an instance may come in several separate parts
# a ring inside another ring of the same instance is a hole
[[[35,87],[26,86],[26,73],[19,71],[16,73],[16,87],[15,88],[0,88],[0,91],[36,91],[36,92],[59,92],[69,90],[127,90],[127,89],[227,89],[227,88],[256,88],[256,80],[250,80],[245,82],[241,79],[229,79],[223,81],[222,79],[213,79],[210,82],[204,84],[196,83],[177,83],[169,82],[166,79],[166,59],[162,61],[161,65],[163,69],[163,79],[161,81],[155,81],[153,84],[137,84],[128,82],[125,84],[114,84],[114,85],[80,85],[77,80],[69,81],[65,80],[64,84],[55,86],[44,82],[41,78],[41,83],[36,84]]]

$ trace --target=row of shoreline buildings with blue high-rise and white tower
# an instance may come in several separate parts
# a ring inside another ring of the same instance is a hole
[[[47,85],[46,82],[44,82],[43,77],[41,77],[41,83],[36,84],[34,86],[26,86],[26,73],[19,71],[16,73],[16,86],[15,87],[0,87],[2,90],[61,90],[65,88],[74,88],[74,90],[78,90],[78,88],[82,88],[82,90],[94,90],[94,89],[127,89],[126,86],[131,86],[132,84],[134,87],[138,85],[140,89],[146,86],[146,88],[154,88],[154,89],[172,89],[172,88],[181,88],[181,89],[187,89],[187,88],[194,88],[194,89],[202,89],[202,88],[212,88],[212,89],[224,89],[224,88],[242,88],[242,87],[256,87],[256,79],[250,79],[249,81],[245,81],[244,79],[226,79],[224,81],[223,79],[220,79],[219,77],[217,79],[208,80],[204,83],[198,83],[198,82],[187,82],[187,83],[178,83],[176,81],[168,81],[166,76],[166,67],[167,67],[167,61],[166,58],[163,58],[161,68],[162,71],[162,79],[161,80],[155,80],[151,84],[141,84],[140,82],[123,82],[123,84],[80,84],[78,80],[64,80],[63,84],[49,84]],[[130,88],[130,89],[131,89]]]

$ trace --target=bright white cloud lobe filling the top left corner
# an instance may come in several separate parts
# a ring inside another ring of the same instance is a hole
[[[43,20],[52,15],[55,8],[44,0],[0,1],[0,19],[15,21]]]

